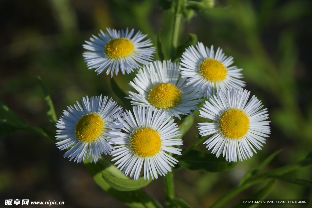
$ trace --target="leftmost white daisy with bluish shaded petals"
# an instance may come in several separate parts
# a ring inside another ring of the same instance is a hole
[[[56,139],[61,140],[56,145],[60,150],[70,148],[64,157],[70,157],[70,161],[84,161],[90,157],[96,163],[101,154],[105,155],[114,148],[111,146],[110,138],[116,137],[112,132],[118,132],[122,125],[117,117],[122,112],[122,107],[116,105],[102,95],[98,97],[88,96],[82,98],[82,106],[77,101],[74,107],[69,106],[64,110],[62,117],[57,121]],[[119,129],[118,129],[119,128]]]

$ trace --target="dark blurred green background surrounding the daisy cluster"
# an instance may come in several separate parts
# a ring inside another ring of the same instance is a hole
[[[227,56],[233,56],[234,64],[244,69],[246,89],[263,101],[272,121],[271,137],[263,150],[235,168],[224,173],[175,172],[176,195],[192,207],[209,207],[236,186],[247,170],[280,148],[283,151],[266,170],[303,159],[311,150],[311,13],[308,0],[216,1],[215,8],[182,21],[180,43],[188,39],[188,33],[195,33],[204,45],[220,46]],[[156,0],[2,0],[0,16],[0,101],[27,123],[50,129],[37,75],[50,92],[58,117],[85,95],[103,94],[118,100],[110,77],[87,69],[82,57],[84,41],[106,27],[129,27],[148,34],[155,45],[155,34],[162,28],[168,51],[173,24],[173,13]],[[129,76],[120,73],[114,78],[125,91],[132,90]],[[199,121],[196,116],[192,130],[183,138],[185,147],[195,140]],[[197,149],[207,151],[203,145]],[[5,199],[30,199],[65,201],[61,207],[124,207],[95,184],[83,164],[64,159],[64,152],[56,148],[55,141],[25,131],[2,136],[0,206]],[[310,180],[311,166],[290,175]],[[261,185],[244,191],[225,207]],[[162,178],[144,189],[164,204]],[[310,187],[280,181],[268,197],[310,197],[312,203]]]

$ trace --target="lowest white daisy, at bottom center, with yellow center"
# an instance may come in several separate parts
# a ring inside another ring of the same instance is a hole
[[[169,147],[182,145],[181,139],[174,139],[181,135],[178,126],[170,120],[165,112],[151,107],[133,107],[134,116],[130,111],[122,113],[124,119],[124,132],[114,133],[119,138],[112,141],[120,146],[111,152],[112,161],[125,173],[137,180],[144,163],[144,179],[157,179],[171,171],[170,166],[177,164],[178,160],[166,152],[181,155],[181,149]],[[169,121],[170,120],[170,121]],[[166,151],[166,152],[165,152]]]

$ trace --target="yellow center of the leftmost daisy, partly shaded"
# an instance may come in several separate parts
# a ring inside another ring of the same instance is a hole
[[[103,124],[100,115],[86,114],[76,124],[76,136],[82,142],[90,142],[100,135]]]

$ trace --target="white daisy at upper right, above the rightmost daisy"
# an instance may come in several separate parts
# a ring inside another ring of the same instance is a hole
[[[215,54],[213,46],[209,50],[198,42],[196,48],[190,46],[183,52],[181,61],[182,77],[188,77],[188,85],[202,90],[207,98],[219,90],[245,86],[245,82],[239,80],[243,78],[239,73],[242,69],[230,66],[233,63],[232,56],[225,56],[220,48]]]

